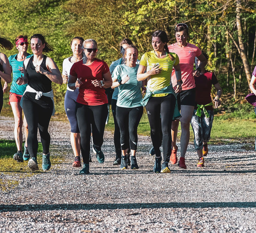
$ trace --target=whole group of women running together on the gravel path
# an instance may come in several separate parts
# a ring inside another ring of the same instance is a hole
[[[82,166],[80,152],[83,159],[83,167],[79,174],[89,173],[91,141],[97,161],[104,162],[101,146],[110,104],[105,90],[110,87],[114,89],[111,103],[115,125],[114,165],[120,165],[121,169],[127,169],[128,166],[131,166],[131,169],[139,168],[139,161],[136,159],[137,128],[145,107],[153,145],[149,152],[155,155],[153,171],[170,173],[168,163],[178,162],[176,138],[179,121],[179,167],[186,169],[185,154],[190,137],[190,123],[195,136],[195,149],[199,156],[197,166],[204,166],[204,156],[208,153],[207,142],[210,140],[213,122],[213,105],[215,108],[220,105],[222,89],[215,75],[204,69],[207,55],[197,46],[187,42],[188,26],[184,23],[177,24],[175,36],[177,42],[168,46],[166,32],[155,31],[152,34],[153,50],[144,53],[140,61],[138,49],[126,38],[120,43],[122,58],[114,61],[110,67],[96,58],[98,47],[95,40],[74,37],[70,43],[73,55],[64,59],[62,75],[56,63],[43,55],[53,49],[41,34],[35,34],[30,38],[32,55],[27,53],[27,37],[18,36],[15,39],[18,50],[16,55],[7,59],[0,53],[0,77],[6,82],[4,91],[7,83],[11,82],[11,69],[13,72],[9,103],[15,118],[14,136],[18,150],[13,158],[18,162],[29,160],[28,167],[31,170],[39,169],[39,129],[43,146],[42,168],[45,171],[51,167],[48,126],[54,114],[51,88],[51,83],[54,82],[67,83],[64,106],[71,126],[70,141],[75,156],[72,165]],[[12,49],[12,44],[8,40],[0,38],[3,48]],[[214,104],[211,99],[212,85],[217,89]],[[2,101],[2,96],[0,98]],[[0,104],[2,106],[2,102]],[[26,138],[24,153],[22,122]]]

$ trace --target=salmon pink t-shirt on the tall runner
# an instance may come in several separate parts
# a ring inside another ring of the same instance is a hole
[[[195,88],[195,79],[193,76],[193,68],[195,63],[195,57],[201,55],[201,50],[193,45],[188,43],[186,47],[180,47],[175,44],[168,46],[169,52],[176,53],[180,59],[180,69],[181,69],[181,80],[182,90],[189,90]],[[172,70],[172,86],[174,87],[177,84],[177,79],[175,75],[175,70]]]

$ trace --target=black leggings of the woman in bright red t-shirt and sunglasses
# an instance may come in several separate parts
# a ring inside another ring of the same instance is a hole
[[[108,116],[108,104],[89,106],[77,103],[76,109],[76,117],[81,135],[81,154],[84,163],[89,164],[91,132],[95,148],[101,150]]]

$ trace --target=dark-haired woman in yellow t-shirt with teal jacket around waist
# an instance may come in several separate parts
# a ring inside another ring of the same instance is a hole
[[[148,80],[147,93],[142,100],[142,105],[146,106],[151,129],[150,136],[155,149],[155,165],[153,169],[155,173],[160,171],[170,173],[168,162],[171,155],[172,119],[173,117],[180,117],[175,94],[181,91],[179,57],[175,53],[169,53],[167,42],[166,32],[156,31],[152,34],[152,47],[154,50],[142,55],[137,74],[138,81]],[[173,67],[177,77],[175,81],[177,84],[174,89],[171,83]],[[144,73],[145,71],[147,72]],[[161,144],[163,145],[164,158],[162,169]]]

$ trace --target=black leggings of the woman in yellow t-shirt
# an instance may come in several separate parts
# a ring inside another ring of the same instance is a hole
[[[171,155],[171,126],[175,103],[175,96],[169,94],[168,96],[164,97],[151,97],[146,105],[148,120],[151,129],[150,136],[152,144],[155,148],[157,157],[161,156],[160,146],[161,144],[163,145],[164,162],[169,162]]]

